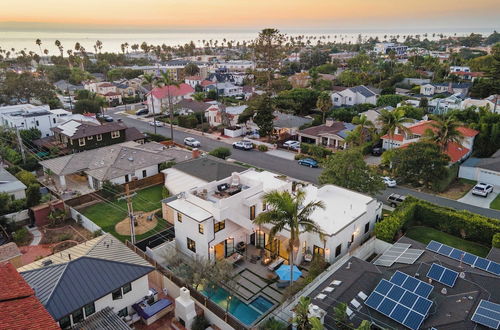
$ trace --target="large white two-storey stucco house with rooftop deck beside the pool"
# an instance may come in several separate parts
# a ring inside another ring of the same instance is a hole
[[[164,217],[171,217],[175,225],[177,249],[189,256],[215,260],[234,258],[236,246],[246,244],[264,248],[268,258],[287,260],[289,232],[284,230],[270,241],[270,226],[253,223],[267,210],[262,197],[273,190],[293,193],[292,181],[249,169],[165,200]],[[372,197],[333,185],[308,185],[303,190],[306,203],[324,202],[326,208],[317,209],[311,218],[326,236],[321,240],[317,234],[301,234],[296,263],[305,254],[334,261],[362,244],[380,218],[382,204]]]

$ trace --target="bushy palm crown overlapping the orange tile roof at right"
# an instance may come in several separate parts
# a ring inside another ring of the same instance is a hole
[[[424,137],[435,142],[445,152],[450,143],[461,144],[464,140],[464,135],[459,128],[462,126],[454,116],[437,117],[431,123],[432,129],[427,129]]]

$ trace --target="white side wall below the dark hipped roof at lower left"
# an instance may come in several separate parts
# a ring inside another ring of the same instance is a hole
[[[108,294],[94,302],[95,311],[111,307],[115,313],[127,307],[129,313],[132,312],[132,305],[149,294],[148,276],[145,275],[132,282],[132,291],[122,295],[122,299],[113,300],[112,294]]]

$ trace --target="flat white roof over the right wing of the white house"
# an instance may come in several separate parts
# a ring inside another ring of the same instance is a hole
[[[321,188],[308,185],[303,190],[306,192],[304,204],[311,201],[323,201],[325,204],[325,208],[316,209],[311,218],[328,235],[337,233],[363,214],[367,209],[366,204],[373,200],[372,197],[334,185]]]

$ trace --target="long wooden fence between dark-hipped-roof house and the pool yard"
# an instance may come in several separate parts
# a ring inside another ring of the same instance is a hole
[[[208,299],[205,297],[202,293],[200,293],[198,290],[190,287],[188,284],[186,284],[183,280],[178,278],[177,276],[174,275],[170,270],[167,268],[163,267],[159,263],[156,262],[153,258],[148,256],[146,253],[144,253],[141,249],[137,248],[135,245],[130,243],[129,241],[125,241],[125,245],[137,253],[139,256],[141,256],[143,259],[148,261],[151,265],[153,265],[157,271],[159,271],[161,274],[166,276],[170,281],[172,281],[175,285],[178,287],[186,287],[189,289],[189,292],[191,296],[196,299],[200,304],[204,305],[206,308],[208,308],[212,313],[214,313],[217,317],[220,319],[224,320],[229,326],[233,327],[234,329],[238,330],[250,330],[251,328],[243,325],[238,319],[236,319],[234,316],[232,316],[229,313],[226,313],[226,311],[217,305],[215,302],[212,300]]]

